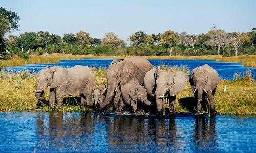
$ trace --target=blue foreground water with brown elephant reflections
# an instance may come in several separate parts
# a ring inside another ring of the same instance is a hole
[[[0,152],[253,152],[253,116],[2,112]]]

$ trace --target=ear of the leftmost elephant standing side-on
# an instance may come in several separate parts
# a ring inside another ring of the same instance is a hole
[[[67,80],[68,71],[65,68],[57,67],[53,70],[53,77],[50,88],[58,87],[63,81]]]

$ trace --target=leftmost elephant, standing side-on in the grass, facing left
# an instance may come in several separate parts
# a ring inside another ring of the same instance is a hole
[[[35,97],[44,99],[44,90],[50,86],[49,105],[63,106],[63,96],[81,96],[81,106],[90,107],[94,86],[94,74],[87,66],[76,65],[72,68],[60,66],[45,67],[38,74]]]

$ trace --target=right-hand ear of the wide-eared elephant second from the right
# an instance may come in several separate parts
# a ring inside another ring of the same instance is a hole
[[[187,86],[187,75],[182,71],[171,72],[170,96],[175,96]]]

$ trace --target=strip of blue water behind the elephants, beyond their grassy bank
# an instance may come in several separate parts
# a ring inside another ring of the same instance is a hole
[[[20,71],[20,70],[30,70],[33,72],[38,72],[45,66],[62,66],[62,67],[73,67],[74,65],[86,65],[89,67],[108,67],[113,59],[81,59],[81,60],[61,60],[60,63],[41,63],[41,64],[27,64],[24,66],[12,66],[6,67],[6,70]],[[242,63],[233,62],[217,62],[215,60],[149,60],[152,65],[158,66],[161,64],[166,64],[170,66],[174,65],[187,65],[190,70],[195,67],[208,64],[214,68],[222,79],[233,79],[236,72],[242,75],[246,70],[251,70],[252,74],[256,74],[256,68],[249,68],[242,66]]]

